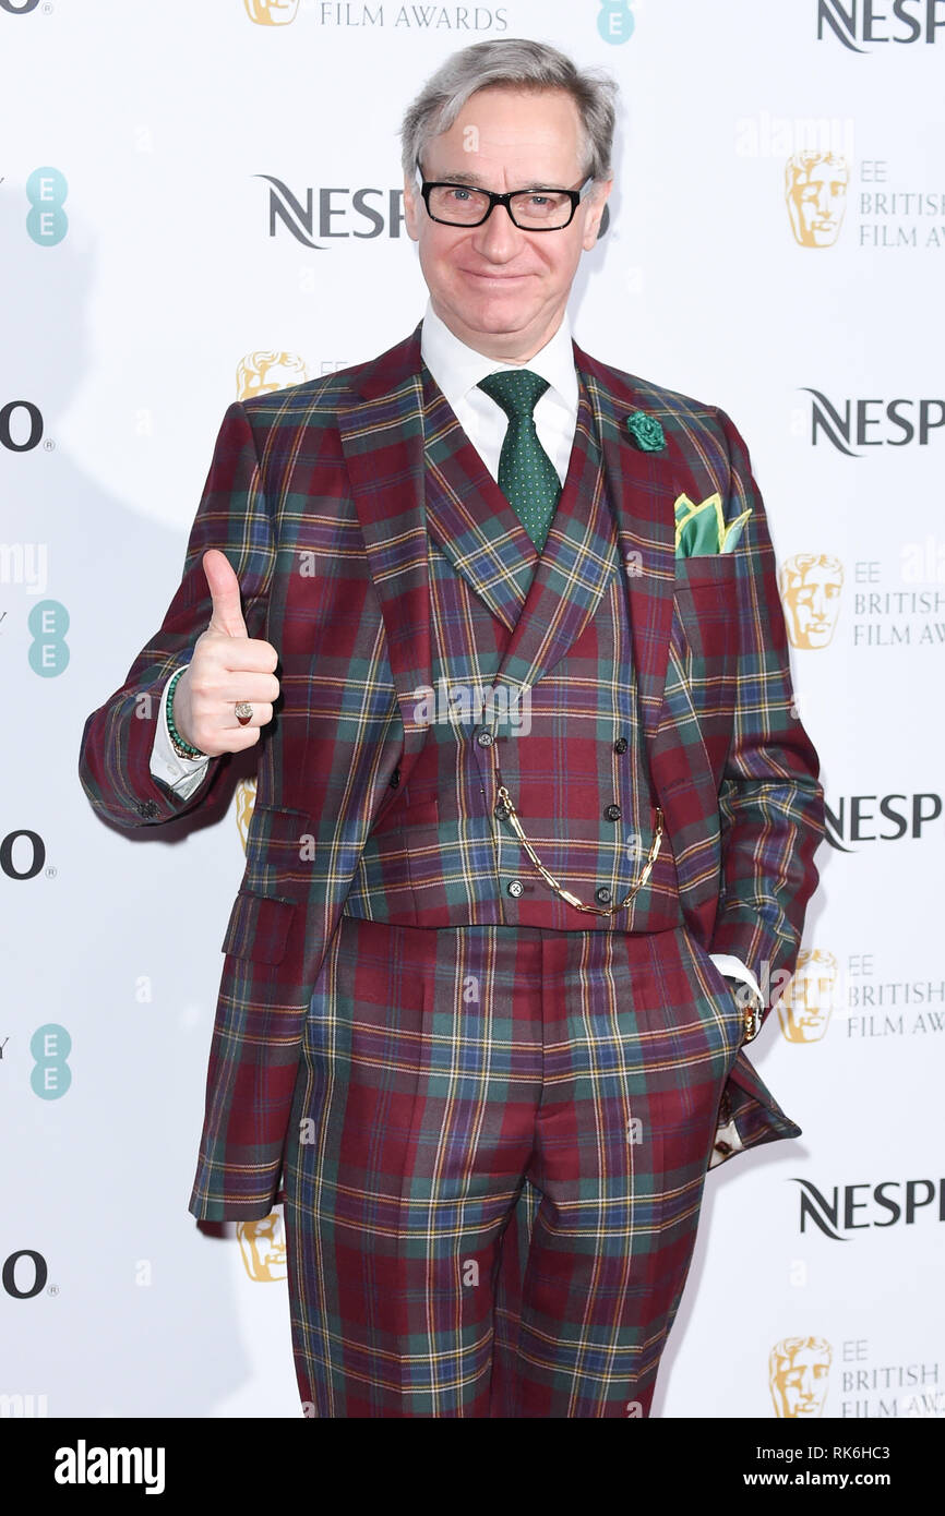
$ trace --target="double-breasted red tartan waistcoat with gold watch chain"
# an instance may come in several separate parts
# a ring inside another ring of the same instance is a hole
[[[681,925],[666,831],[643,888],[599,916],[557,894],[496,810],[498,766],[537,857],[596,907],[623,899],[654,840],[628,570],[584,387],[542,555],[426,368],[423,435],[432,687],[417,702],[429,726],[410,781],[394,772],[343,914],[428,928]]]

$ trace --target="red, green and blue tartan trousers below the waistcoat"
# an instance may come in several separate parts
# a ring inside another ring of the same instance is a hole
[[[306,1414],[649,1414],[742,1040],[724,984],[686,926],[341,917],[284,1157]]]

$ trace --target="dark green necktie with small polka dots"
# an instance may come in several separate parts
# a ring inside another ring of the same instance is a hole
[[[479,390],[508,417],[499,455],[499,488],[542,552],[561,494],[558,471],[538,441],[532,415],[548,390],[548,379],[531,368],[508,368],[488,374],[479,382]]]

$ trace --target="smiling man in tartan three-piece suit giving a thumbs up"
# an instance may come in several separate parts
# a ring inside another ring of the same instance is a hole
[[[85,729],[129,826],[259,743],[190,1208],[285,1199],[316,1416],[648,1414],[707,1169],[798,1134],[742,1051],[822,834],[763,505],[567,323],[613,89],[526,41],[429,80],[422,326],[229,408]]]

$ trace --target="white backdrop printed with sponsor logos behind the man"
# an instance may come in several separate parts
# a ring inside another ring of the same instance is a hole
[[[299,1414],[279,1219],[187,1211],[238,797],[111,829],[79,738],[231,400],[420,318],[407,100],[534,36],[623,96],[575,335],[746,437],[833,819],[792,1037],[752,1048],[804,1135],[710,1173],[654,1411],[945,1416],[945,3],[896,11],[0,0],[0,1414]]]

